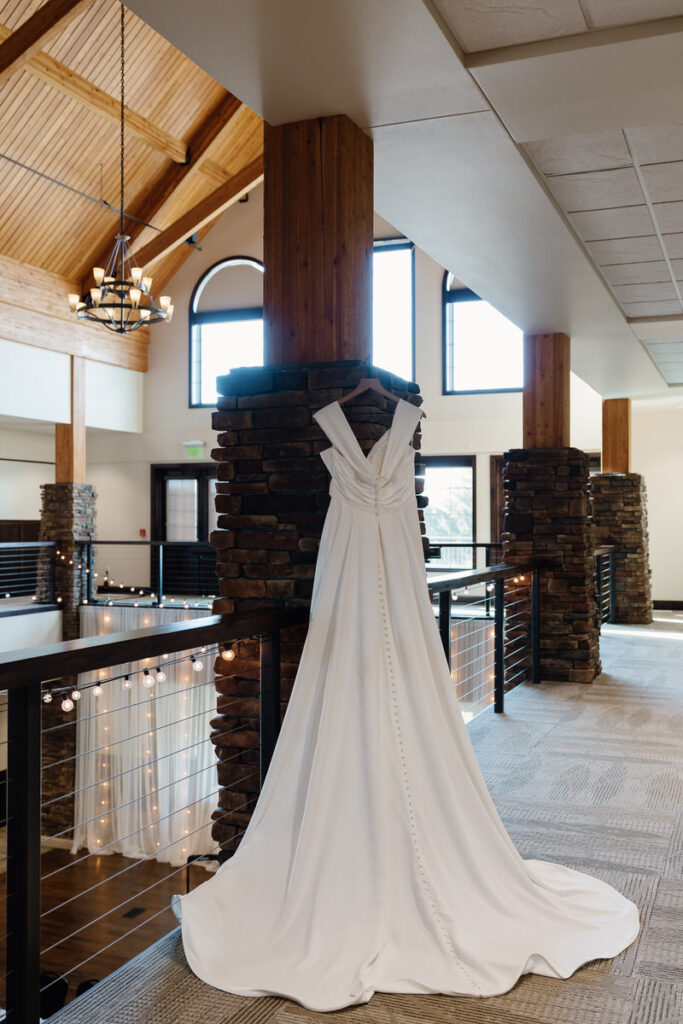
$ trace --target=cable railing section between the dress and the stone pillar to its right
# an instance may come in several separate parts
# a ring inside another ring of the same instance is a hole
[[[428,585],[465,721],[490,705],[502,713],[507,690],[540,682],[535,562],[430,575]]]

